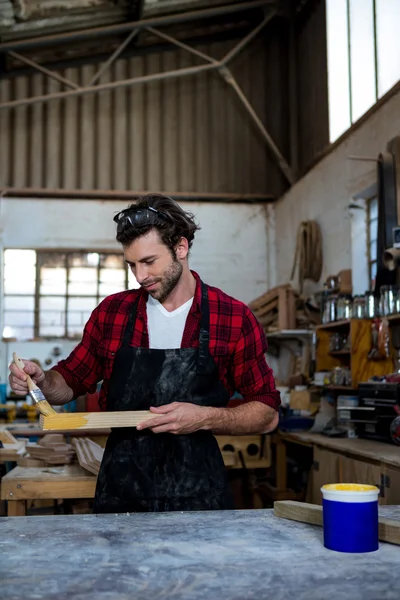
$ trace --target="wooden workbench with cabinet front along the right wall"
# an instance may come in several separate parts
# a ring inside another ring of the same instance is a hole
[[[321,503],[320,488],[326,483],[366,483],[381,489],[381,504],[400,504],[400,447],[361,438],[337,438],[315,433],[283,433],[272,436],[276,455],[274,500],[307,499]],[[312,468],[306,495],[287,487],[288,445],[312,450]]]

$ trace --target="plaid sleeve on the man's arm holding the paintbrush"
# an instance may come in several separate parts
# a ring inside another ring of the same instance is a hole
[[[96,391],[98,381],[103,376],[103,365],[97,352],[101,340],[99,328],[99,306],[92,312],[85,325],[81,342],[65,360],[61,360],[52,370],[58,371],[74,392],[74,397]]]

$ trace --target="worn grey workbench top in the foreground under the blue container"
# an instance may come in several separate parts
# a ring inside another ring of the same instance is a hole
[[[382,507],[400,519],[400,507]],[[400,546],[326,550],[272,510],[0,521],[7,600],[398,600]]]

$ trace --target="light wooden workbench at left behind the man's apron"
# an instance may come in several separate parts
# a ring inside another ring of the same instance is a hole
[[[96,477],[79,465],[15,467],[1,480],[0,498],[8,516],[26,515],[27,500],[93,498]]]

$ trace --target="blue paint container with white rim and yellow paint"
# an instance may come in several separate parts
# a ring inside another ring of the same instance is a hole
[[[336,552],[378,550],[379,489],[358,483],[330,483],[321,492],[325,548]]]

